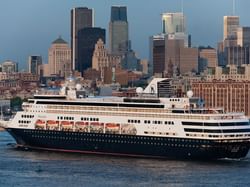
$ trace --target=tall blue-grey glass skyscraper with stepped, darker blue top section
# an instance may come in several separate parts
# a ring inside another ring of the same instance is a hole
[[[112,6],[109,23],[109,46],[113,54],[123,55],[129,49],[126,6]]]

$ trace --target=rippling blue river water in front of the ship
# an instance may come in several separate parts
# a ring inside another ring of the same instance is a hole
[[[21,151],[0,132],[0,187],[250,186],[250,155],[213,162]]]

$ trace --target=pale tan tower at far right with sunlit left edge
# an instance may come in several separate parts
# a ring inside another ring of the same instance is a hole
[[[240,24],[239,16],[224,16],[224,35],[223,40],[236,39],[237,28]]]

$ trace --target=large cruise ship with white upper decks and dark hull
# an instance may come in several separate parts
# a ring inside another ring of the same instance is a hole
[[[25,149],[169,159],[247,155],[243,113],[205,108],[192,91],[165,97],[168,83],[153,79],[138,97],[87,97],[70,77],[58,94],[37,93],[23,103],[5,129]]]

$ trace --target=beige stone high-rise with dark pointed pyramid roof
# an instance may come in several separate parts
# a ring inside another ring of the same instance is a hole
[[[71,49],[61,37],[52,42],[48,55],[49,74],[66,77],[71,72]]]

